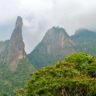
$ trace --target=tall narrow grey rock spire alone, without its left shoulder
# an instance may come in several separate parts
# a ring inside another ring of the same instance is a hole
[[[6,64],[10,70],[15,70],[17,64],[21,59],[26,57],[25,45],[22,38],[22,18],[18,16],[15,29],[9,40],[7,55],[6,55]]]

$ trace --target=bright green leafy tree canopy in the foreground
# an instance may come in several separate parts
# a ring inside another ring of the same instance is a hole
[[[72,53],[31,74],[16,96],[96,96],[96,58]]]

